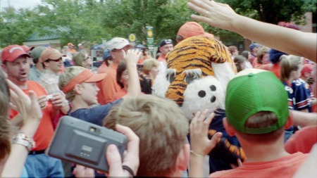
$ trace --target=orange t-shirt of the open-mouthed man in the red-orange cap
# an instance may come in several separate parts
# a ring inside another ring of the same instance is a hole
[[[28,89],[23,89],[23,92],[27,94],[28,91],[35,91],[37,97],[47,95],[45,89],[35,81],[28,80],[27,81]],[[28,95],[28,94],[27,94]],[[51,102],[48,103],[47,107],[42,110],[43,117],[41,122],[39,123],[39,127],[37,128],[37,132],[33,136],[35,141],[35,148],[32,151],[44,150],[49,146],[49,142],[51,141],[54,129],[51,121],[51,111],[53,111],[53,105]],[[18,115],[18,111],[11,110],[10,118],[13,118],[15,115]]]

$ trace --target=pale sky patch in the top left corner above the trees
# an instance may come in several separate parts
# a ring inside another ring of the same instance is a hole
[[[34,8],[41,0],[0,0],[1,8],[13,6],[14,8]]]

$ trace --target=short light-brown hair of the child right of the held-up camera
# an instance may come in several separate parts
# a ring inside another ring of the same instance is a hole
[[[116,124],[130,127],[139,136],[138,177],[163,177],[175,172],[189,122],[174,101],[147,94],[125,99],[104,119],[105,127],[116,129]]]

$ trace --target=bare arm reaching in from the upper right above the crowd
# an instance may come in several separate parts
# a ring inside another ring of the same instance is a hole
[[[238,15],[228,6],[209,0],[189,0],[189,8],[201,15],[192,15],[194,20],[208,23],[214,27],[237,32],[243,37],[254,40],[264,46],[285,53],[309,58],[316,62],[316,33],[301,32],[286,27]]]

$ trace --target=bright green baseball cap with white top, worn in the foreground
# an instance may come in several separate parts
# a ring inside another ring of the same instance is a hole
[[[285,125],[289,115],[287,92],[272,72],[249,68],[230,80],[226,98],[225,115],[237,131],[247,134],[265,134]],[[275,113],[278,122],[263,128],[245,126],[251,115],[261,111]]]

